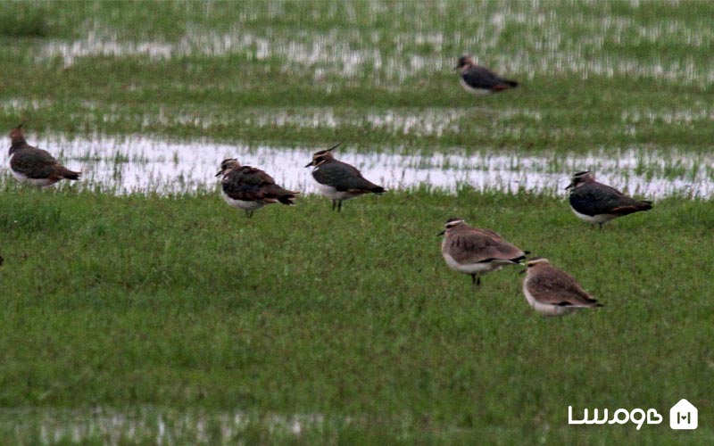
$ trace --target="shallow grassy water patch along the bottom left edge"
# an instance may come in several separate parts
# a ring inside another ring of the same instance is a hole
[[[320,414],[210,412],[141,406],[128,409],[3,409],[0,435],[12,444],[236,444],[246,431],[299,437],[306,431],[336,429],[349,418]]]

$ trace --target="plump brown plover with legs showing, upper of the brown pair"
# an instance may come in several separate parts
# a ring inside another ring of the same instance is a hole
[[[471,276],[471,283],[481,285],[481,276],[506,265],[518,265],[527,251],[503,240],[490,229],[470,227],[463,219],[449,219],[444,230],[441,252],[446,264]]]

